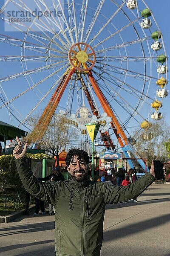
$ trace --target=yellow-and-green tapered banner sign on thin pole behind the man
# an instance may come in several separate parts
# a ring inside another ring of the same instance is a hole
[[[96,138],[96,135],[99,131],[100,124],[98,122],[96,123],[89,123],[85,125],[88,131],[88,135],[91,138],[92,141],[92,177],[94,180],[94,140]]]

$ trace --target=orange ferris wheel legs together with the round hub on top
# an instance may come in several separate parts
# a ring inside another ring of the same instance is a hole
[[[81,49],[81,47],[85,47],[84,50]],[[78,49],[78,51],[77,51]],[[89,52],[89,49],[91,52]],[[88,50],[88,52],[86,52]],[[68,52],[68,59],[71,63],[71,68],[66,71],[65,75],[62,77],[62,80],[60,81],[57,89],[53,93],[50,102],[48,103],[47,107],[45,108],[44,112],[42,113],[42,116],[40,117],[36,127],[34,128],[34,131],[31,134],[31,142],[35,143],[36,141],[41,140],[43,137],[48,124],[51,120],[51,117],[53,116],[59,101],[62,97],[62,94],[68,84],[68,81],[71,79],[71,76],[74,74],[75,70],[79,72],[79,78],[82,83],[82,88],[85,92],[85,96],[88,99],[89,105],[91,107],[91,110],[94,115],[96,115],[99,118],[99,113],[97,109],[95,108],[94,102],[90,96],[90,93],[88,92],[88,88],[86,87],[82,76],[80,74],[82,71],[88,75],[88,78],[91,82],[91,85],[96,93],[96,96],[98,97],[100,104],[102,105],[103,110],[108,114],[108,116],[111,116],[111,126],[113,128],[114,133],[116,134],[117,140],[119,142],[119,145],[121,147],[127,145],[127,137],[122,130],[121,126],[119,125],[118,120],[116,119],[116,116],[114,115],[107,99],[103,95],[102,91],[100,90],[98,84],[96,83],[96,80],[94,79],[94,76],[91,72],[91,68],[94,67],[96,56],[94,50],[85,43],[77,43],[74,44],[71,49]],[[87,63],[86,63],[87,62]],[[88,67],[88,64],[90,63],[90,67]],[[105,132],[102,134],[102,136],[105,135],[108,138],[108,141],[110,142],[110,145],[112,149],[115,148],[115,146],[112,143],[111,138],[109,137],[108,132]],[[103,141],[108,147],[108,141]]]

